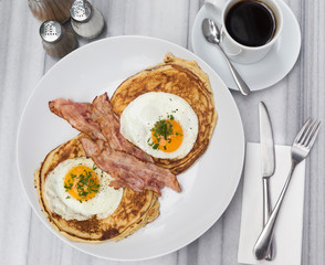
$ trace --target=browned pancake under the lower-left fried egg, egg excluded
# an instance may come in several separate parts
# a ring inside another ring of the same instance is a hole
[[[85,157],[78,141],[80,137],[84,137],[84,135],[80,135],[52,150],[34,174],[42,210],[55,230],[72,241],[98,243],[106,240],[122,240],[153,222],[159,215],[159,202],[157,194],[148,190],[136,192],[125,188],[122,201],[115,212],[102,220],[92,218],[84,221],[67,221],[50,210],[44,195],[45,179],[60,162]]]

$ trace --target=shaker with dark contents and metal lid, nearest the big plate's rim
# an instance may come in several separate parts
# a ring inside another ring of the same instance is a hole
[[[57,21],[43,22],[40,28],[40,35],[45,52],[53,57],[63,57],[77,46],[73,32]]]

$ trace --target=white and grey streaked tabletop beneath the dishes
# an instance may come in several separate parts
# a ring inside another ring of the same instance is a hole
[[[275,142],[291,145],[307,116],[325,121],[325,2],[285,0],[297,17],[303,39],[293,71],[268,89],[233,97],[242,113],[248,141],[259,140],[258,103],[272,114]],[[140,34],[191,50],[190,33],[202,0],[93,0],[107,23],[98,38]],[[27,0],[0,0],[0,264],[122,264],[81,253],[61,242],[36,218],[17,170],[17,129],[28,97],[57,60],[45,55],[36,21]],[[80,45],[87,41],[81,41]],[[38,126],[35,120],[34,126]],[[322,128],[306,167],[303,265],[325,263],[325,177]],[[32,150],[31,150],[32,151]],[[222,218],[200,239],[156,259],[127,264],[238,264],[242,182]],[[295,265],[295,264],[293,264]]]

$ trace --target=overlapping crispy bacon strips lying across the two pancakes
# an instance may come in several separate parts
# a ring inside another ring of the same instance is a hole
[[[90,136],[81,138],[83,148],[98,168],[115,178],[111,186],[153,190],[159,195],[165,186],[180,191],[175,174],[156,166],[150,156],[119,132],[119,117],[113,112],[107,94],[96,97],[92,104],[59,98],[49,106],[51,112]]]

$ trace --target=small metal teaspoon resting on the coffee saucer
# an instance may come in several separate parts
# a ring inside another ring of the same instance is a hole
[[[220,31],[217,24],[214,23],[214,21],[211,19],[205,19],[202,21],[202,32],[208,42],[217,45],[220,49],[238,88],[240,89],[241,94],[243,94],[244,96],[248,96],[251,93],[251,89],[249,88],[247,83],[242,80],[242,77],[237,72],[237,70],[233,67],[232,63],[229,61],[223,49],[220,46]]]

